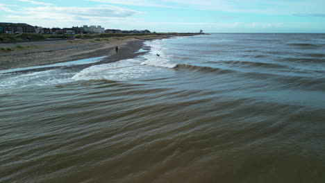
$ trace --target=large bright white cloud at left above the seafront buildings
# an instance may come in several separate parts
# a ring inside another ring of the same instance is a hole
[[[112,21],[132,21],[134,15],[143,12],[119,8],[116,6],[101,7],[56,7],[42,6],[35,8],[22,8],[19,15],[6,15],[8,21],[22,21],[28,24],[44,27],[64,27],[83,24],[107,24]]]

